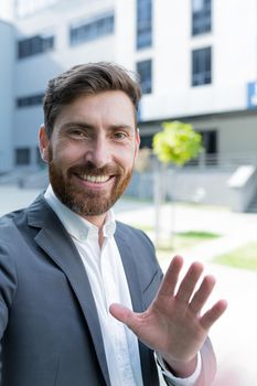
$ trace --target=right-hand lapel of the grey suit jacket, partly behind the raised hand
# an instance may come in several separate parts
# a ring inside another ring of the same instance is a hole
[[[139,267],[137,266],[137,256],[135,256],[131,245],[131,239],[128,240],[126,233],[121,232],[120,227],[117,227],[115,239],[121,256],[126,278],[129,286],[129,292],[131,297],[132,308],[135,312],[144,311],[142,300],[142,289],[140,286],[138,272]],[[150,368],[150,350],[139,341],[139,353],[141,361],[141,371],[143,385],[151,385],[151,368]]]

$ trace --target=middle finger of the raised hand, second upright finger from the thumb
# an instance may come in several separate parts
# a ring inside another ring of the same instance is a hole
[[[195,261],[190,266],[176,292],[175,298],[178,300],[182,302],[188,302],[190,300],[202,272],[203,265],[201,262]]]

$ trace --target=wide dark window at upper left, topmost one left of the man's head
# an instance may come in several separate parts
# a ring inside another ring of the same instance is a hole
[[[53,35],[35,35],[18,42],[18,58],[42,54],[54,49]]]

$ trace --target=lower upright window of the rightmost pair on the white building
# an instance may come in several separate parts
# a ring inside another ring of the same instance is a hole
[[[192,51],[192,86],[212,83],[212,49]]]

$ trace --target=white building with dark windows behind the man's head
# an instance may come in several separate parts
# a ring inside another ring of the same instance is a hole
[[[15,12],[13,167],[39,163],[47,81],[95,61],[140,74],[142,146],[180,119],[214,163],[257,164],[257,0],[17,0]]]

